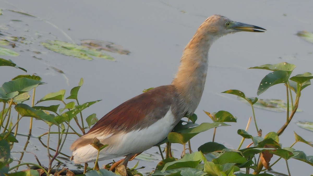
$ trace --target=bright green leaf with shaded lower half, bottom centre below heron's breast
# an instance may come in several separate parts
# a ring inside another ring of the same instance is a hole
[[[196,166],[203,160],[201,152],[186,153],[182,159],[166,163],[162,172],[176,168],[196,168]]]

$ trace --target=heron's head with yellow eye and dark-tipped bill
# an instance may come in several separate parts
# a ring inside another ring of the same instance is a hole
[[[266,29],[251,24],[233,21],[222,15],[212,15],[201,25],[202,29],[207,33],[215,36],[223,36],[240,31],[246,32],[265,32]]]

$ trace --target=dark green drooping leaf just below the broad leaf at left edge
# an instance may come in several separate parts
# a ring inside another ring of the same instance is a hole
[[[53,116],[46,114],[42,110],[33,109],[26,104],[17,104],[15,110],[18,111],[21,116],[34,117],[35,119],[43,120],[44,122],[47,121],[56,124]]]

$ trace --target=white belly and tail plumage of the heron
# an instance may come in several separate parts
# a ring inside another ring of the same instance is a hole
[[[165,139],[167,134],[172,131],[175,125],[173,124],[174,121],[174,115],[169,110],[162,119],[156,121],[148,128],[128,133],[122,132],[108,137],[108,139],[114,138],[114,142],[111,142],[108,147],[100,151],[99,160],[140,153],[153,147]],[[88,144],[76,149],[73,152],[73,156],[75,163],[94,162],[97,157],[97,150]]]

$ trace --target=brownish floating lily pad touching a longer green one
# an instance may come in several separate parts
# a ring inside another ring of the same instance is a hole
[[[81,40],[83,46],[90,49],[105,50],[118,54],[129,54],[130,52],[121,45],[114,44],[112,42],[106,42],[102,40]]]

